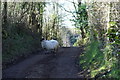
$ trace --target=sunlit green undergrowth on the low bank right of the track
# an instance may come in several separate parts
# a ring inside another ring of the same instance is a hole
[[[91,78],[120,78],[118,59],[113,54],[113,46],[106,44],[100,48],[101,42],[92,40],[86,45],[84,53],[80,56],[80,65],[88,71]]]

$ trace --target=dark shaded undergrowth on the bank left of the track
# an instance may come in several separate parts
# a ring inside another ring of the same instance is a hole
[[[3,37],[2,41],[3,64],[10,63],[20,56],[27,56],[40,48],[39,39],[35,39],[31,35],[32,32],[29,32],[29,29],[25,29],[25,27],[22,28],[22,26],[17,24],[15,25],[16,26],[9,25],[12,26],[12,28],[10,30],[5,30],[8,36]],[[17,26],[21,27],[22,29],[19,29]]]

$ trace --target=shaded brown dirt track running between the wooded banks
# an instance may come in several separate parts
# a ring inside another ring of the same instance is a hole
[[[81,48],[60,48],[57,55],[38,53],[3,71],[3,78],[79,78]]]

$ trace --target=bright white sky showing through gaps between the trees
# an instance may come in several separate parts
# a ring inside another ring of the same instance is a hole
[[[70,2],[70,1],[73,1],[73,0],[63,0],[63,1],[60,1],[59,4],[62,4],[62,6],[68,10],[68,11],[74,11],[74,5]],[[77,0],[74,0],[74,1],[77,1]],[[46,15],[49,14],[50,12],[52,12],[52,6],[47,6],[46,7]],[[72,14],[69,13],[69,12],[66,12],[63,8],[62,8],[62,14],[65,14],[67,16],[64,17],[64,26],[66,26],[67,28],[74,28],[74,22],[70,21],[70,19],[73,19],[72,17]]]

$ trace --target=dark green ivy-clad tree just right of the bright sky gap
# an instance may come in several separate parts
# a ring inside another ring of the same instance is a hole
[[[75,27],[81,31],[82,38],[85,38],[85,33],[88,30],[88,15],[86,11],[86,4],[78,4],[78,9],[75,9],[74,13],[76,13],[75,19],[70,19],[75,24]]]

